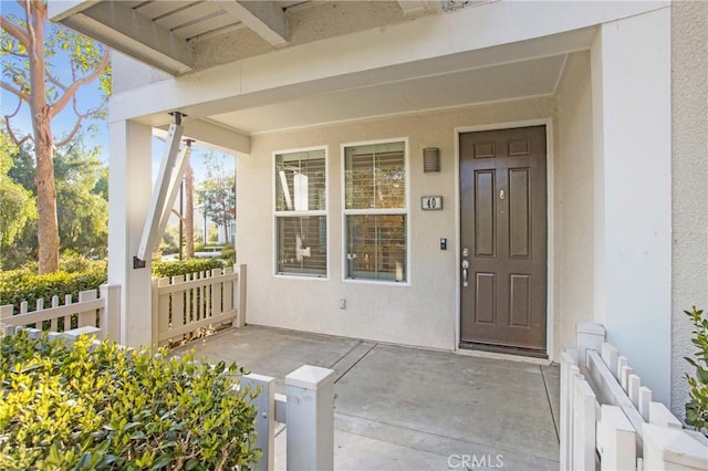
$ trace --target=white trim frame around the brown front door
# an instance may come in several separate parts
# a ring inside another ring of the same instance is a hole
[[[546,168],[546,304],[545,304],[545,353],[548,358],[552,360],[553,357],[553,347],[555,345],[553,337],[553,327],[555,323],[555,306],[553,304],[553,295],[554,295],[554,285],[553,280],[555,279],[555,266],[554,266],[554,257],[553,257],[553,247],[554,247],[554,233],[553,228],[555,227],[555,213],[553,211],[554,201],[555,201],[555,187],[553,185],[553,159],[554,159],[554,148],[553,148],[553,118],[537,118],[537,119],[525,119],[518,122],[506,122],[506,123],[493,123],[493,124],[483,124],[477,126],[460,126],[456,127],[455,133],[455,245],[457,249],[457,253],[455,254],[456,261],[456,286],[455,286],[455,352],[462,353],[460,348],[460,271],[459,266],[461,263],[460,260],[460,228],[461,228],[461,217],[460,217],[460,134],[461,133],[476,133],[481,130],[497,130],[497,129],[511,129],[516,127],[527,127],[527,126],[545,126],[545,168]],[[521,356],[521,358],[525,358]]]

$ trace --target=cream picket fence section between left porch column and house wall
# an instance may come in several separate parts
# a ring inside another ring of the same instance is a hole
[[[246,265],[153,279],[153,343],[180,341],[204,327],[243,324]]]

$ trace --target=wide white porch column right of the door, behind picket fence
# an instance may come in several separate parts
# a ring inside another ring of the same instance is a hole
[[[595,321],[668,404],[670,10],[604,23],[592,46]]]

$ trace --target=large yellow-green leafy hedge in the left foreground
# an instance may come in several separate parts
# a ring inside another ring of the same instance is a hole
[[[260,454],[236,365],[25,333],[0,348],[0,469],[243,469]]]

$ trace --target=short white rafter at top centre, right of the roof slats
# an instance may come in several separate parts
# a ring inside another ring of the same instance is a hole
[[[274,1],[230,0],[222,2],[226,11],[272,45],[284,45],[290,39],[288,17]]]

